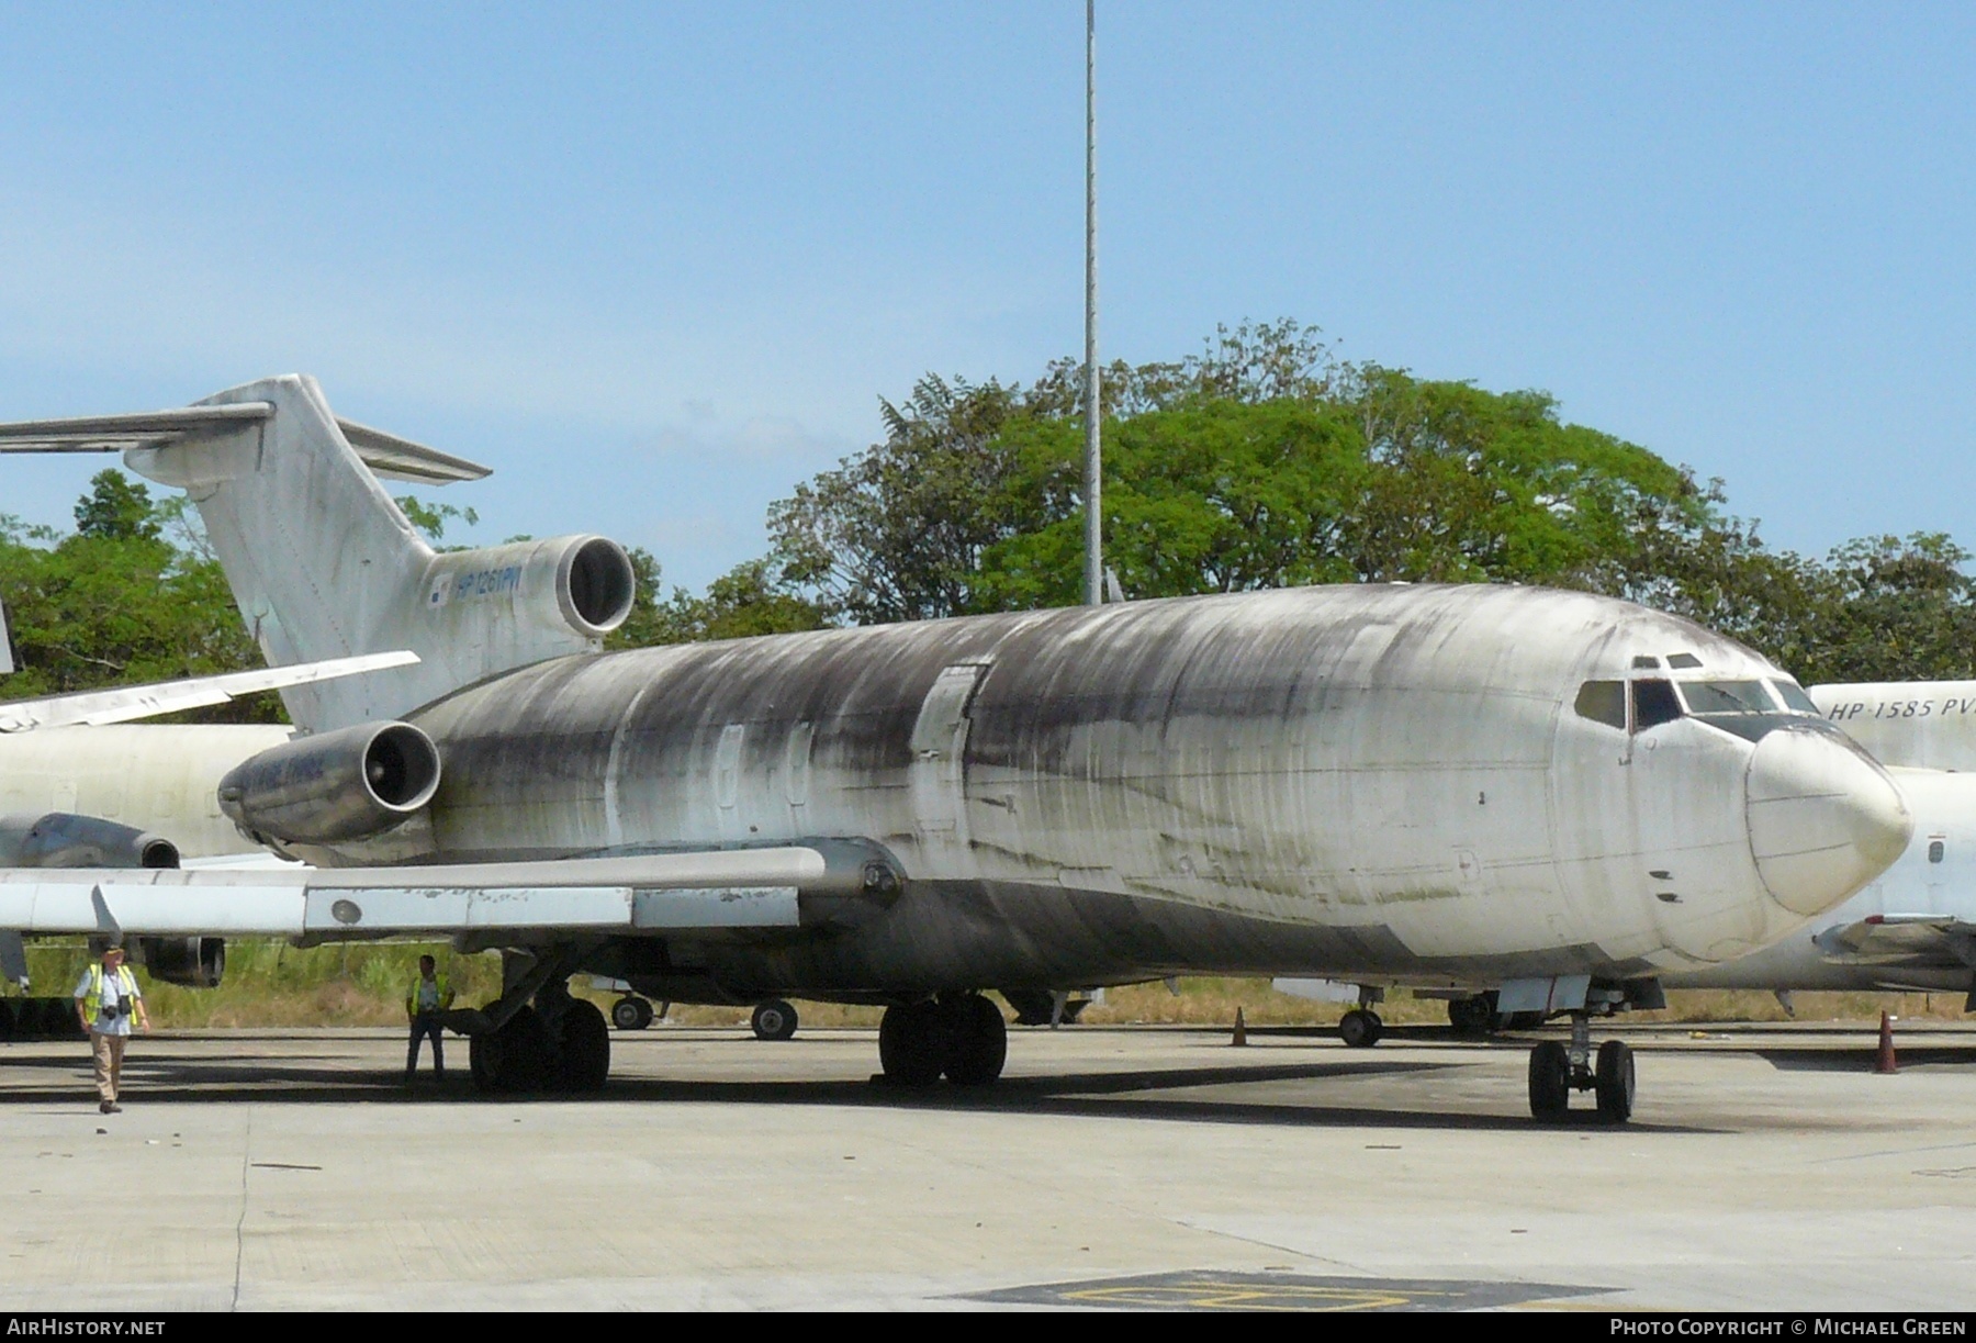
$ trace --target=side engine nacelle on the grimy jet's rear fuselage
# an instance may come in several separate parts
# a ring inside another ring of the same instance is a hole
[[[296,738],[219,779],[219,809],[257,841],[336,845],[403,825],[439,791],[439,750],[409,722]]]

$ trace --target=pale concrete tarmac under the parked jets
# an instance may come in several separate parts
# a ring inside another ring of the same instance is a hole
[[[458,1038],[407,1092],[399,1032],[180,1032],[117,1116],[85,1044],[6,1044],[0,1307],[1976,1307],[1976,1025],[1897,1076],[1859,1029],[1618,1034],[1618,1129],[1527,1118],[1535,1036],[1423,1029],[1014,1030],[1002,1084],[901,1092],[869,1030],[658,1025],[583,1102],[476,1100]]]

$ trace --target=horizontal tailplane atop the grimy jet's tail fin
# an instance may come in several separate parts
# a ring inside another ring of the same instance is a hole
[[[180,405],[136,415],[87,415],[81,419],[18,419],[0,423],[0,453],[124,453],[168,447],[184,439],[213,437],[273,417],[267,402]],[[375,475],[417,485],[482,481],[492,471],[480,463],[441,453],[383,429],[336,419],[344,439]]]

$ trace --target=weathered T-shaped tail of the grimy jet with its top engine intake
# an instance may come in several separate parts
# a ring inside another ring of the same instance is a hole
[[[263,378],[170,411],[0,425],[0,451],[119,449],[198,504],[271,667],[419,655],[285,688],[310,732],[397,718],[494,672],[595,649],[630,613],[630,562],[599,536],[435,552],[379,477],[447,485],[488,469],[338,419],[314,378]]]

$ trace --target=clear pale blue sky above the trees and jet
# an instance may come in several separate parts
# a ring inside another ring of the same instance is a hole
[[[1296,316],[1976,546],[1972,14],[1101,2],[1105,354]],[[1081,174],[1075,0],[8,6],[0,417],[310,372],[698,587],[879,396],[1081,346]]]

